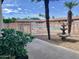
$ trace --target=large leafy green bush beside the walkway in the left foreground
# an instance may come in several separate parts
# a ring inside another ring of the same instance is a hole
[[[24,48],[28,42],[32,42],[33,36],[14,29],[2,29],[0,37],[0,55],[25,56]]]

